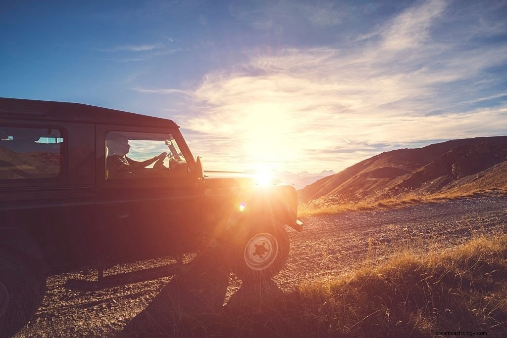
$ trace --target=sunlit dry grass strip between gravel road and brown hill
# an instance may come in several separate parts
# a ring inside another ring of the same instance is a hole
[[[507,193],[507,190],[456,190],[436,194],[418,194],[406,191],[392,197],[369,199],[368,196],[324,196],[298,205],[298,217],[305,218],[317,215],[340,214],[348,211],[372,210],[375,208],[394,208],[416,203],[437,203],[467,197],[479,197]]]

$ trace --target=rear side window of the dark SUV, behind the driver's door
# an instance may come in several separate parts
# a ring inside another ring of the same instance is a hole
[[[0,180],[58,177],[63,141],[55,128],[0,126]]]

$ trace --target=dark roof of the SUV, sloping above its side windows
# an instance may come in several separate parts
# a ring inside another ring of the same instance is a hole
[[[0,120],[5,120],[5,117],[43,121],[178,127],[169,119],[82,103],[0,98]]]

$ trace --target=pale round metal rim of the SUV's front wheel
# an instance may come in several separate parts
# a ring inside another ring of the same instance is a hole
[[[244,251],[248,268],[256,271],[269,268],[278,255],[278,241],[270,233],[263,232],[250,238]]]

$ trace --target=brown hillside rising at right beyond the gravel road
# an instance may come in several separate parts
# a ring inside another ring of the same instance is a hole
[[[334,195],[371,200],[404,192],[507,192],[507,136],[478,137],[383,152],[299,190],[302,200]]]

